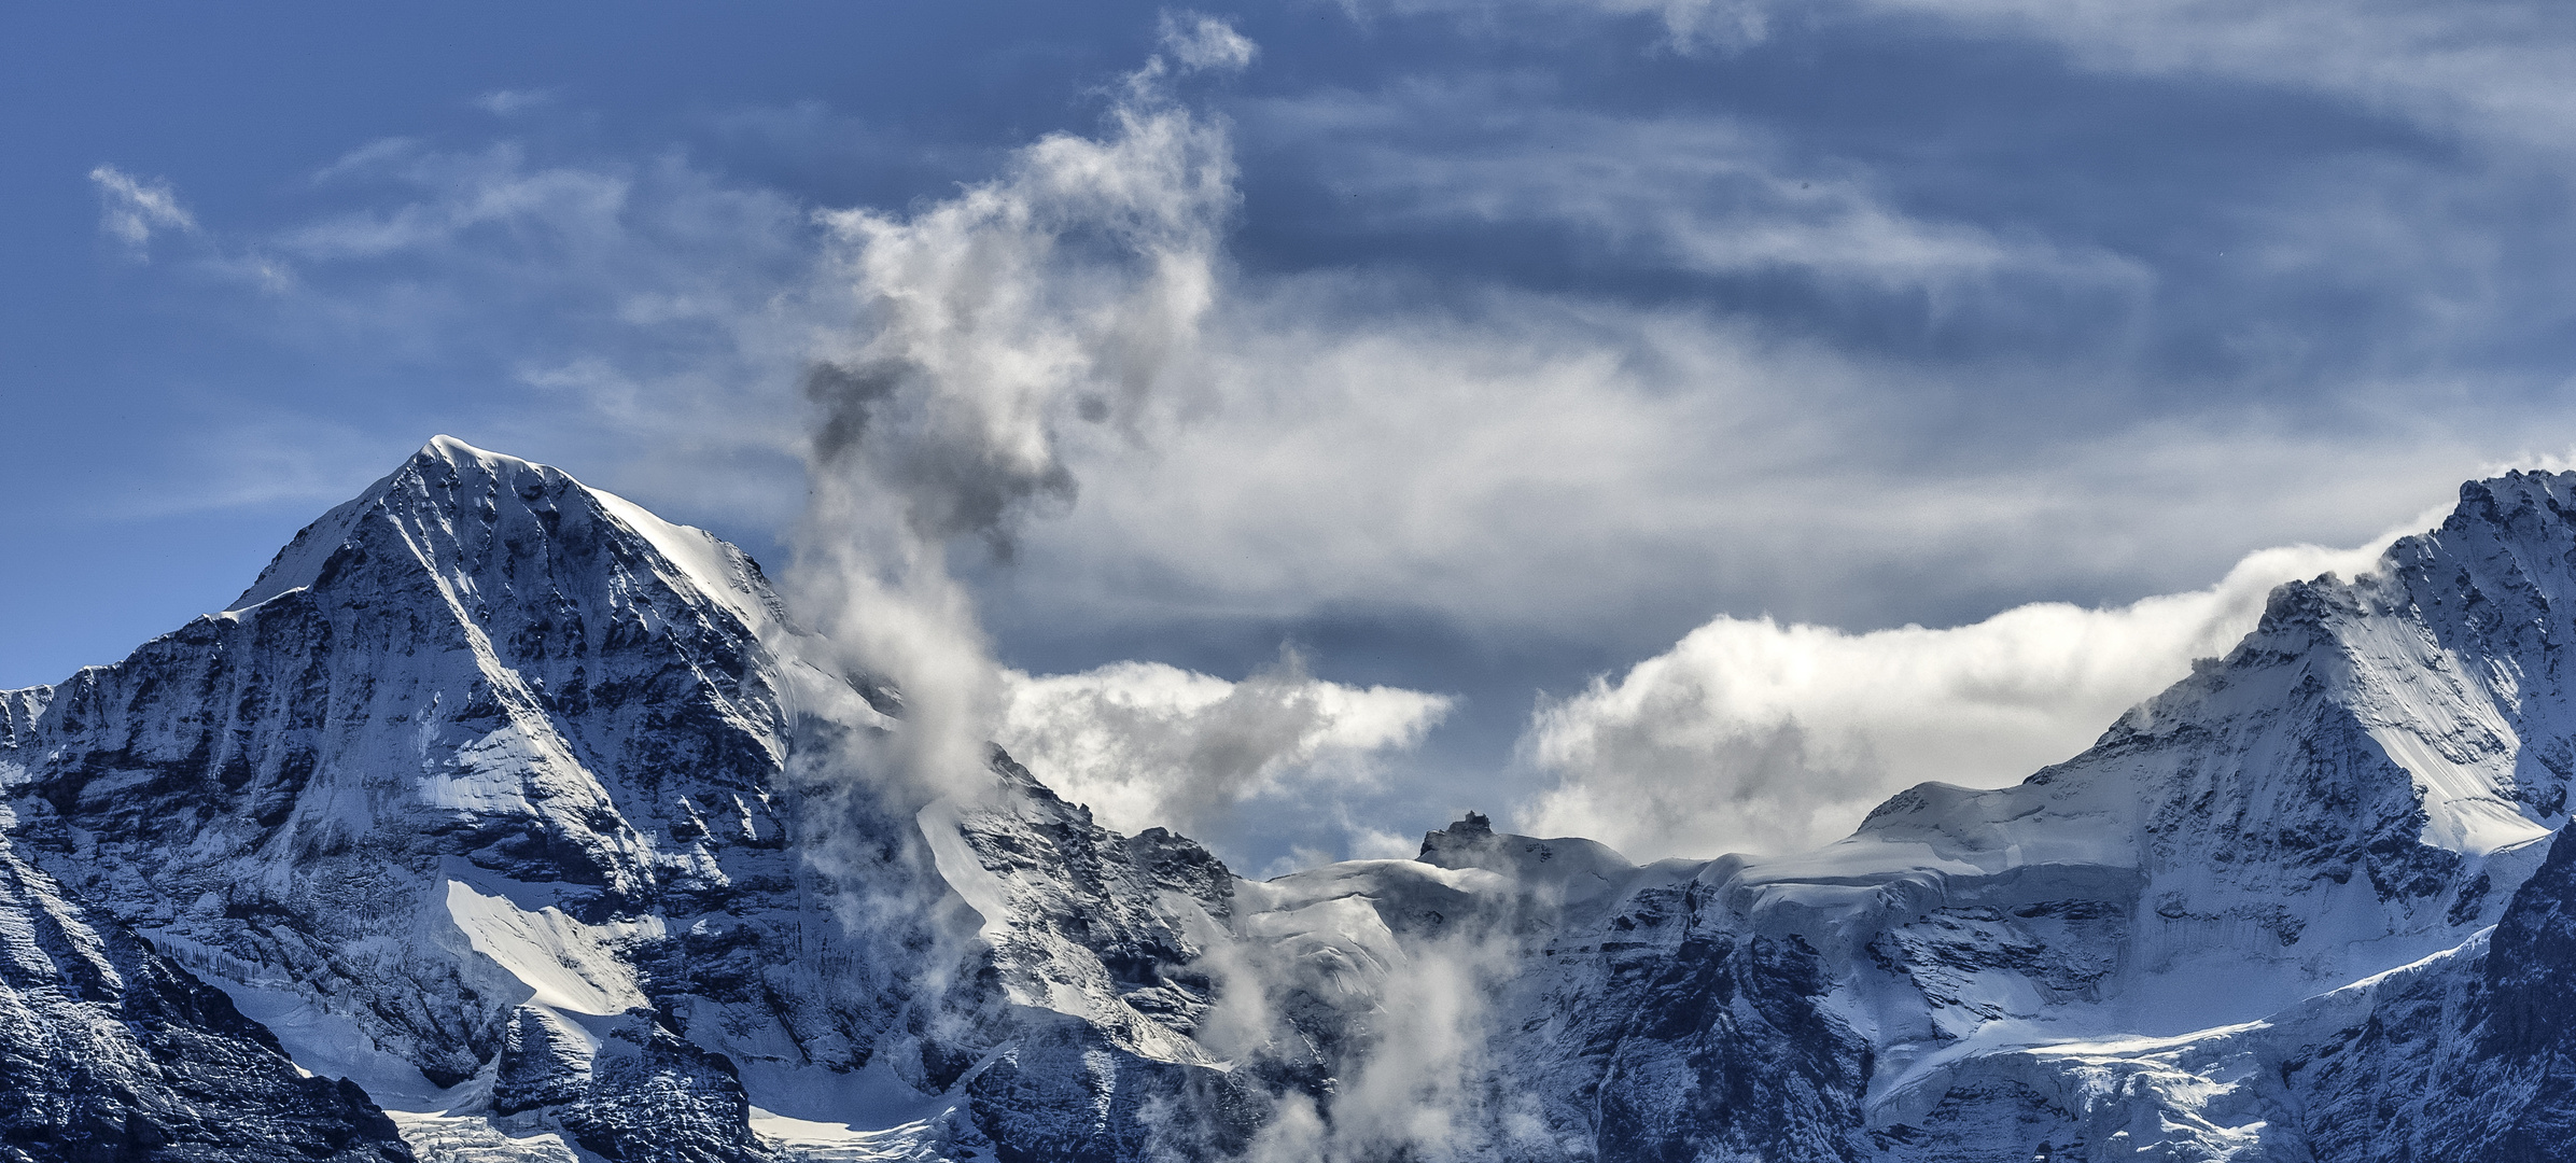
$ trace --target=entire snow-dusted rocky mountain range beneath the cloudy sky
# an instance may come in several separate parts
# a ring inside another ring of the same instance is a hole
[[[433,440],[0,692],[0,1158],[2576,1160],[2576,476],[1795,857],[1121,836]]]

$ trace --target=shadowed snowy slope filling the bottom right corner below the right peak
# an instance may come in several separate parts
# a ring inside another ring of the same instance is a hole
[[[2262,1021],[2058,1042],[1945,1065],[1896,1160],[2576,1158],[2576,841],[2561,831],[2494,929]]]

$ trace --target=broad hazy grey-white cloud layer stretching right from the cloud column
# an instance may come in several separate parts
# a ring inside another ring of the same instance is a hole
[[[2053,399],[2009,371],[1958,383],[1703,311],[1386,298],[1229,288],[1149,455],[1069,435],[1082,502],[987,582],[1012,620],[1110,636],[1363,610],[1638,654],[1672,641],[1646,628],[1718,610],[1958,620],[2360,540],[2494,455],[2473,440],[2576,443],[2403,414],[2403,386],[2398,419],[2342,432],[2249,412],[2017,427],[2017,394]]]

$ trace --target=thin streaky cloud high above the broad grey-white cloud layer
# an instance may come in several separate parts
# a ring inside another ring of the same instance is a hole
[[[1777,134],[1731,116],[1566,111],[1492,77],[1270,100],[1257,116],[1327,157],[1324,183],[1378,229],[1566,226],[1587,255],[1649,268],[1795,270],[1953,298],[1999,278],[2056,298],[2136,301],[2151,288],[2146,268],[2099,247],[1904,214],[1865,167],[1793,160]]]

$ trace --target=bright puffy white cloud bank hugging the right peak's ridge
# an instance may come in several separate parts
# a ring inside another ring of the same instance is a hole
[[[2393,538],[2269,548],[2210,589],[2022,605],[1942,630],[1718,618],[1618,682],[1540,705],[1522,749],[1558,785],[1517,829],[1633,859],[1798,852],[1924,780],[1999,787],[2074,756],[2192,659],[2226,654],[2275,584],[2354,576]]]

